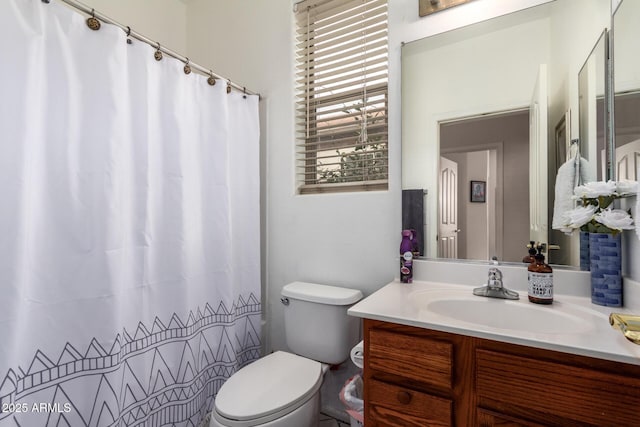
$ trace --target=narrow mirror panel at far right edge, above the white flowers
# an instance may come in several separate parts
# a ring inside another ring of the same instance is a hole
[[[615,179],[640,176],[640,2],[625,0],[613,15]]]

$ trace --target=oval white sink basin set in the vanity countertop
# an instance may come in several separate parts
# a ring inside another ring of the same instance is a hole
[[[414,291],[409,300],[425,320],[444,319],[510,331],[575,334],[591,330],[593,319],[603,321],[599,313],[572,304],[554,301],[552,305],[536,305],[526,299],[478,297],[470,290]]]

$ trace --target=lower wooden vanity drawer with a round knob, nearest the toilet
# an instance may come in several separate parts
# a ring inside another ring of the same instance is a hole
[[[366,409],[374,426],[450,426],[453,402],[371,379]]]

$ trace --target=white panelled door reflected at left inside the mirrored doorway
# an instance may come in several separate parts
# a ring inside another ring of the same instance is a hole
[[[440,157],[438,257],[458,258],[458,164]]]

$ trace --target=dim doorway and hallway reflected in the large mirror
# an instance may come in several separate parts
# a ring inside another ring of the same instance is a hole
[[[458,165],[456,203],[438,195],[439,224],[443,212],[456,218],[455,257],[520,262],[529,241],[529,110],[441,122],[439,134],[441,158]],[[485,183],[484,199],[471,197],[472,181]],[[450,257],[439,246],[438,256]]]

